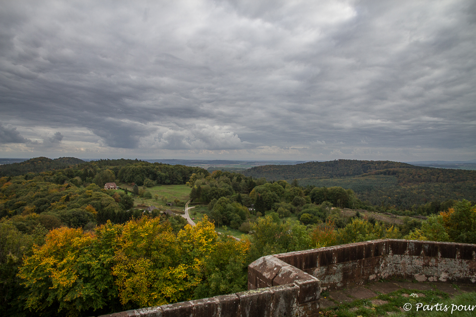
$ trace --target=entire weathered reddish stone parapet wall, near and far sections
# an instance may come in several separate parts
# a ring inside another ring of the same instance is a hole
[[[476,283],[476,244],[385,239],[268,255],[248,266],[248,291],[101,317],[317,317],[321,289],[389,277]]]

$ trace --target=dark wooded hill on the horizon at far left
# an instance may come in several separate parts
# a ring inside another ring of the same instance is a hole
[[[48,157],[36,157],[21,163],[1,165],[0,177],[18,176],[27,173],[41,173],[44,171],[67,168],[80,163],[85,163],[85,161],[75,157],[60,157],[54,160]]]

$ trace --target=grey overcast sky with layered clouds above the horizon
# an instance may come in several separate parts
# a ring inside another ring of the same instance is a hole
[[[0,157],[476,159],[476,2],[0,3]]]

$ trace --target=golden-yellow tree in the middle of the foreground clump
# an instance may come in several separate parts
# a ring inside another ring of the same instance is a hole
[[[171,270],[179,269],[179,252],[168,222],[148,217],[128,221],[119,238],[113,268],[121,303],[126,307],[147,307],[179,297],[179,290],[171,291],[168,285],[176,279]]]

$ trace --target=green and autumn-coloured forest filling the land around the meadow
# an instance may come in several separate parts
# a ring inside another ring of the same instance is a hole
[[[51,161],[22,162],[0,177],[4,315],[89,316],[243,291],[248,264],[281,252],[377,238],[476,243],[476,207],[461,188],[463,195],[444,201],[408,194],[413,201],[426,199],[410,210],[388,209],[390,197],[380,205],[369,202],[373,196],[360,198],[359,188],[387,199],[399,177],[407,186],[427,186],[418,179],[436,175],[422,168],[416,177],[401,163],[367,164],[363,174],[339,172],[340,178],[321,178],[316,186],[140,160],[68,158],[63,168]],[[20,170],[24,174],[17,175]],[[435,177],[441,182],[433,185],[474,183],[468,174],[447,182],[444,171]],[[134,190],[105,190],[106,182]],[[186,184],[190,200],[206,206],[196,226],[136,206],[147,188],[167,184]],[[342,208],[356,212],[345,217]],[[427,219],[406,217],[395,225],[363,216],[362,209]],[[248,234],[237,241],[218,235],[216,226]]]

